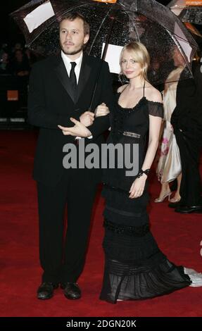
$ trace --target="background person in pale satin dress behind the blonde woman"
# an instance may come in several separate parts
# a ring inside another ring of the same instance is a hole
[[[160,145],[160,158],[156,169],[158,180],[160,180],[161,183],[161,190],[158,198],[154,200],[155,202],[162,202],[168,196],[168,200],[171,204],[175,204],[181,199],[179,188],[182,178],[179,148],[173,132],[173,127],[170,123],[172,112],[176,106],[177,84],[182,70],[184,69],[184,58],[177,48],[173,51],[173,60],[176,68],[175,70],[172,70],[168,76],[163,91],[164,129]],[[172,192],[169,183],[175,179],[177,179],[177,190],[172,199],[170,199]]]

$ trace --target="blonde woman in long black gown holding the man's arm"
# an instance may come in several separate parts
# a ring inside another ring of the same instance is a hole
[[[128,169],[118,166],[103,171],[106,261],[100,299],[113,304],[168,294],[191,284],[184,268],[168,261],[149,230],[147,177],[158,148],[163,104],[160,92],[147,80],[148,67],[149,54],[143,44],[123,47],[120,68],[129,83],[118,89],[111,109],[108,144],[119,143],[123,149],[125,144],[138,144],[138,155],[131,159],[138,162],[139,173],[127,176]]]

